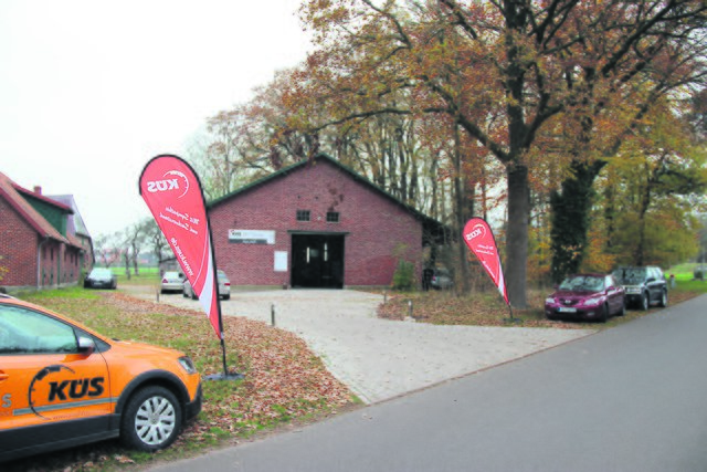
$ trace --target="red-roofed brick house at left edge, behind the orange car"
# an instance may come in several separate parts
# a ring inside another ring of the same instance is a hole
[[[91,266],[91,237],[83,221],[77,222],[73,198],[64,200],[68,204],[43,196],[40,187],[20,187],[0,172],[0,286],[12,291],[71,285]]]

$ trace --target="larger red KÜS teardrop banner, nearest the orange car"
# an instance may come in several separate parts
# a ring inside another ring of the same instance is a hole
[[[167,238],[217,336],[223,339],[211,231],[201,182],[177,156],[152,158],[140,175],[140,196]]]

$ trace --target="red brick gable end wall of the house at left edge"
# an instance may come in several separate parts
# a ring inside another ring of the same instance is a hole
[[[38,234],[0,198],[0,265],[9,269],[0,286],[36,286]]]

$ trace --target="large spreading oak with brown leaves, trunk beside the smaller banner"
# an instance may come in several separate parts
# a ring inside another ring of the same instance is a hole
[[[694,1],[309,0],[318,49],[286,93],[291,126],[310,132],[380,114],[440,114],[506,168],[506,272],[525,307],[529,176],[539,136],[576,126],[580,165],[597,123],[658,83],[699,43]],[[677,41],[676,39],[679,39]],[[326,113],[324,113],[326,112]],[[622,109],[637,116],[639,111]]]

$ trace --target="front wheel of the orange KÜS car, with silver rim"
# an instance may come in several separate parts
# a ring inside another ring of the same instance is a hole
[[[181,429],[177,397],[163,387],[146,387],[130,398],[120,420],[120,440],[131,449],[152,452],[170,445]]]

